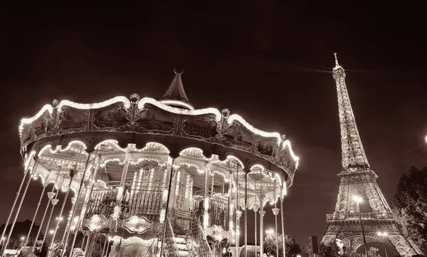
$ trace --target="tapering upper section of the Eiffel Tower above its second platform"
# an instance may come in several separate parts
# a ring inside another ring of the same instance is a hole
[[[355,172],[362,169],[369,169],[367,155],[365,154],[357,131],[356,120],[352,105],[345,85],[345,71],[335,56],[335,67],[332,69],[332,76],[337,84],[339,127],[341,129],[342,148],[342,171]]]

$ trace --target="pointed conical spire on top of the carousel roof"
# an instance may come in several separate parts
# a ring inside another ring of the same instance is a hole
[[[184,73],[183,68],[174,68],[174,79],[171,85],[167,88],[166,93],[159,98],[159,101],[174,107],[181,107],[189,110],[194,110],[189,98],[187,98],[184,85],[182,85],[181,74]]]

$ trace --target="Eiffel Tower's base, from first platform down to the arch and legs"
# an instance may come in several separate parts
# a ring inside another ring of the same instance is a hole
[[[387,231],[388,236],[382,238],[377,235],[378,231]],[[384,242],[396,249],[400,256],[422,255],[420,249],[401,233],[394,221],[379,222],[378,220],[369,221],[368,219],[364,219],[364,234],[367,243]],[[322,238],[322,243],[329,246],[337,239],[341,241],[344,247],[352,252],[363,246],[362,226],[359,220],[330,222],[325,236]]]

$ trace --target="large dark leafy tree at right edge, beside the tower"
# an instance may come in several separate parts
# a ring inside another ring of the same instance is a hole
[[[427,167],[411,167],[400,177],[393,205],[404,234],[427,253]]]

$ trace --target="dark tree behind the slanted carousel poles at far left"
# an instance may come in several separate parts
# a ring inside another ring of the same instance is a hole
[[[3,232],[5,224],[0,226],[0,231]],[[22,246],[23,242],[26,240],[26,236],[28,235],[28,231],[30,230],[31,221],[29,219],[26,219],[25,221],[19,221],[16,222],[14,226],[14,230],[12,231],[11,238],[9,240],[8,248],[18,248],[19,246]],[[39,226],[36,224],[33,225],[33,229],[31,229],[30,238],[28,238],[28,244],[31,245],[31,243],[34,242],[37,238],[37,231]],[[11,230],[11,224],[9,224],[6,228],[6,234],[5,236],[9,234],[9,231]],[[43,235],[41,235],[43,236]],[[22,240],[22,238],[24,238]],[[1,246],[3,247],[3,245]]]

